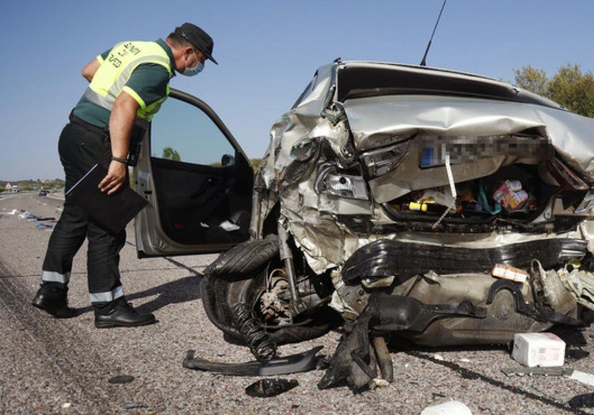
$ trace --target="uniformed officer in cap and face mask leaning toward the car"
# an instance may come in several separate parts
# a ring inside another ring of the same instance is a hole
[[[184,23],[163,41],[124,41],[91,60],[83,68],[90,84],[70,115],[59,138],[58,152],[70,189],[96,163],[108,167],[99,189],[108,194],[128,186],[127,162],[133,158],[151,117],[169,94],[174,71],[192,76],[210,59],[213,40],[200,27]],[[141,315],[124,296],[119,276],[119,251],[126,234],[110,232],[77,205],[64,211],[49,240],[43,261],[42,285],[34,307],[56,318],[77,315],[68,307],[72,258],[89,241],[87,280],[98,328],[155,323]]]

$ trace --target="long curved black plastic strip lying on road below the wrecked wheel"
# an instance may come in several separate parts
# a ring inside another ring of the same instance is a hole
[[[197,371],[216,372],[235,376],[270,376],[288,373],[308,372],[317,368],[318,362],[325,356],[316,356],[323,349],[317,346],[308,352],[286,357],[276,357],[268,362],[223,363],[194,357],[195,350],[188,350],[182,366]]]

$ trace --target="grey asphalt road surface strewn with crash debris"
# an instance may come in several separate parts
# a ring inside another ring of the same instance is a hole
[[[506,376],[519,366],[503,346],[426,349],[391,345],[395,381],[353,394],[346,386],[320,391],[323,372],[282,376],[298,387],[271,398],[245,388],[259,378],[223,376],[182,368],[188,349],[221,362],[252,360],[249,350],[223,338],[208,321],[198,285],[216,256],[136,258],[134,235],[122,251],[122,280],[129,301],[154,312],[159,323],[140,328],[96,329],[86,286],[86,248],[75,258],[69,302],[83,314],[56,320],[30,305],[50,228],[10,215],[14,209],[55,216],[52,195],[0,196],[0,413],[2,414],[419,414],[460,401],[473,414],[594,413],[568,401],[594,387],[561,376]],[[42,221],[52,225],[52,222]],[[594,373],[589,356],[594,331],[561,331],[569,353],[565,367]],[[340,338],[282,346],[282,355],[324,346],[331,355]],[[128,384],[108,379],[131,375]]]

